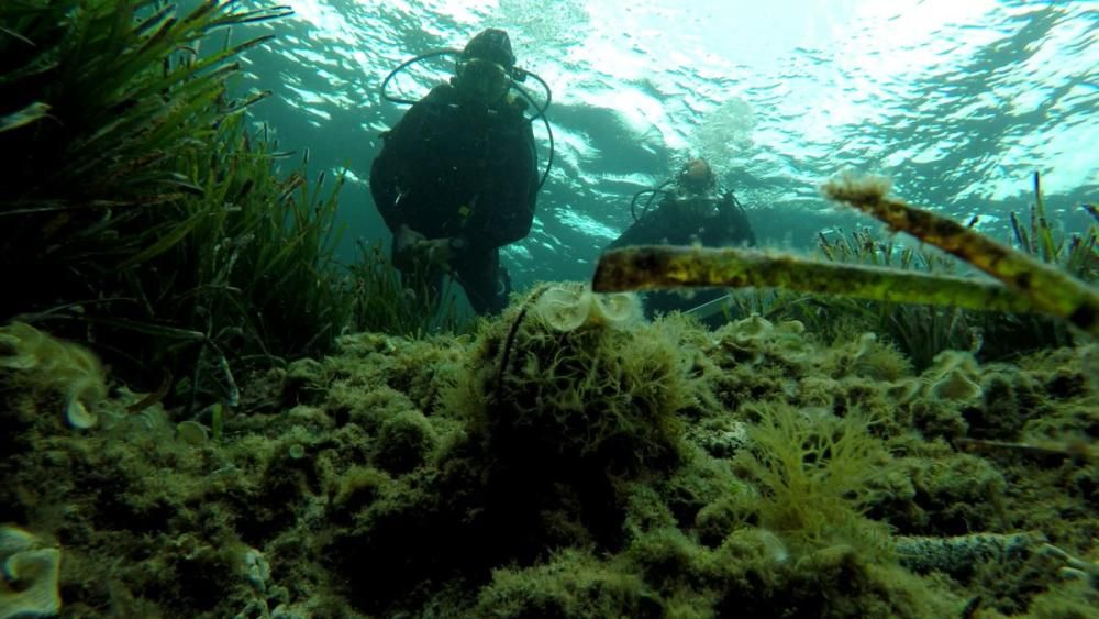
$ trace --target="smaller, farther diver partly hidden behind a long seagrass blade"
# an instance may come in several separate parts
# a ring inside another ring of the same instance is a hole
[[[644,194],[650,197],[639,218],[635,208]],[[660,198],[654,209],[653,200],[657,196]],[[722,247],[756,244],[744,207],[732,191],[721,190],[713,168],[701,157],[689,159],[675,178],[634,194],[630,212],[633,224],[607,250],[630,245]],[[650,319],[671,310],[695,313],[699,319],[714,316],[721,319],[718,302],[725,296],[724,290],[700,290],[686,296],[675,290],[659,290],[647,292],[642,299]],[[706,310],[696,311],[702,308]]]

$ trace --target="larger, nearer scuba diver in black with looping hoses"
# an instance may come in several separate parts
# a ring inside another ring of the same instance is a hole
[[[390,97],[386,85],[413,62],[456,54],[455,75],[419,101]],[[488,29],[460,52],[417,56],[382,82],[390,101],[412,103],[382,134],[381,153],[370,167],[370,192],[393,234],[392,262],[407,288],[411,278],[439,294],[444,275],[464,289],[474,311],[496,313],[508,305],[511,281],[500,265],[500,247],[525,237],[534,219],[539,177],[532,121],[545,118],[519,87],[529,71],[515,66],[508,33]],[[536,113],[524,113],[534,107]],[[546,123],[548,129],[548,123]]]

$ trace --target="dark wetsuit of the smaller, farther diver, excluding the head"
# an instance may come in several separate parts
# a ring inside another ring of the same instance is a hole
[[[700,200],[708,208],[692,209],[681,202]],[[744,209],[732,194],[681,197],[667,194],[659,205],[646,212],[622,233],[608,250],[629,245],[695,245],[724,247],[755,245],[755,233]],[[723,290],[699,290],[693,295],[657,290],[644,296],[645,316],[653,318],[671,310],[686,311],[724,295]]]

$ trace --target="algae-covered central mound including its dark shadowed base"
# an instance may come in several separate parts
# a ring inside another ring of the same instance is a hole
[[[462,566],[463,578],[488,579],[492,566],[531,564],[547,549],[615,551],[630,531],[674,524],[673,493],[641,500],[637,483],[675,485],[688,460],[679,413],[698,386],[682,352],[641,321],[632,297],[566,285],[550,298],[540,306],[535,295],[482,323],[436,410],[390,394],[382,401],[403,409],[349,414],[370,428],[371,464],[393,476],[380,493],[367,484],[375,496],[332,549],[384,583],[364,608],[381,612],[393,597],[417,595],[411,586],[425,573],[445,578]],[[458,420],[460,431],[440,432]],[[689,520],[710,497],[679,486],[674,507]],[[351,496],[345,502],[359,502]],[[642,504],[647,516],[637,513]],[[364,556],[385,560],[365,566]]]

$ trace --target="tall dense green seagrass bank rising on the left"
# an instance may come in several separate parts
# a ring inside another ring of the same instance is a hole
[[[346,329],[430,329],[437,301],[402,301],[388,263],[336,264],[342,175],[325,186],[308,152],[282,172],[267,128],[249,128],[267,92],[234,93],[241,54],[271,36],[234,27],[288,13],[0,7],[0,147],[16,155],[0,169],[14,292],[0,318],[89,341],[137,385],[229,404],[234,375],[330,351]]]

